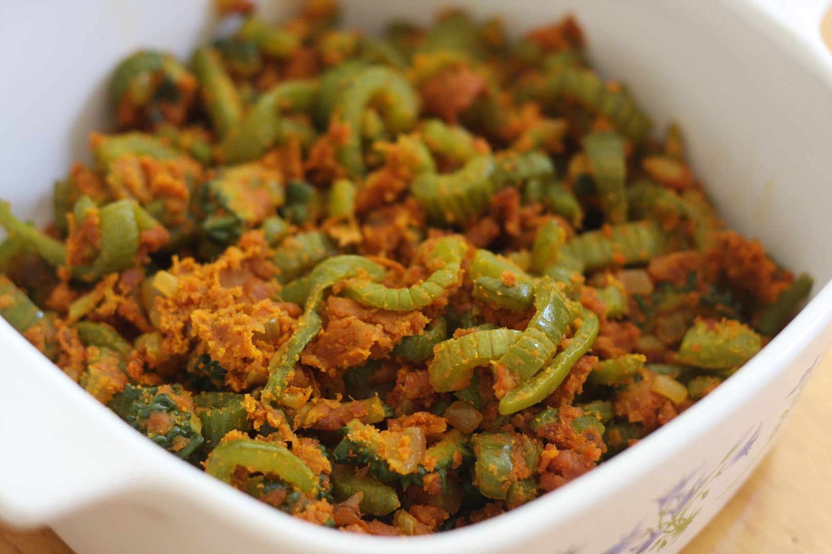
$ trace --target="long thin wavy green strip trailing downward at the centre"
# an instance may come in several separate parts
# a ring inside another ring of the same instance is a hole
[[[380,278],[384,275],[384,269],[366,257],[343,255],[320,262],[310,272],[310,289],[304,313],[300,316],[295,333],[280,345],[269,363],[269,380],[263,393],[266,398],[280,400],[292,371],[295,370],[300,353],[321,330],[323,322],[318,315],[318,305],[323,300],[326,289],[341,279],[356,277],[359,274]]]

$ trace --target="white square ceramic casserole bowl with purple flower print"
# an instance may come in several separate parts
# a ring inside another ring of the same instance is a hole
[[[440,4],[354,0],[346,25],[427,22]],[[506,515],[432,537],[337,532],[286,516],[131,431],[0,321],[0,517],[77,552],[676,552],[755,468],[830,342],[832,63],[828,0],[458,0],[514,31],[567,10],[592,58],[661,127],[686,130],[733,228],[808,271],[814,298],[759,355],[611,462]],[[277,11],[291,8],[275,2]],[[0,196],[42,222],[53,179],[106,129],[104,83],[138,47],[186,56],[210,2],[0,2]]]

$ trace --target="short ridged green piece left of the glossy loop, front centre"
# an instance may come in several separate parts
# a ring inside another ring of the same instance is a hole
[[[493,329],[440,342],[428,364],[430,385],[437,392],[463,390],[473,376],[473,368],[500,359],[521,335],[522,331]]]

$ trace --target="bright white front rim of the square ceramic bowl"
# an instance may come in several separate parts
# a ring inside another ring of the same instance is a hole
[[[800,37],[789,32],[783,24],[776,21],[770,13],[761,10],[755,0],[720,0],[723,7],[730,7],[741,12],[744,22],[757,27],[760,32],[770,37],[798,61],[810,63],[809,69],[820,76],[832,89],[832,63],[828,57],[811,48]],[[192,502],[201,503],[211,515],[227,519],[230,506],[233,506],[233,521],[245,532],[265,541],[283,542],[286,547],[295,547],[299,551],[306,549],[337,548],[348,552],[374,553],[389,552],[392,547],[400,554],[421,553],[428,549],[439,552],[467,552],[473,543],[488,537],[489,547],[510,547],[515,537],[537,534],[546,527],[557,525],[559,518],[569,517],[569,513],[581,512],[602,498],[616,493],[628,483],[636,481],[660,466],[666,458],[686,444],[696,441],[720,421],[730,417],[743,407],[742,402],[729,400],[749,400],[755,393],[775,379],[800,351],[819,339],[820,335],[832,321],[832,281],[825,283],[815,297],[795,316],[795,319],[766,345],[760,353],[743,366],[735,375],[718,387],[711,395],[687,409],[670,424],[657,429],[646,439],[639,441],[626,452],[603,463],[591,472],[567,483],[555,494],[545,494],[533,503],[510,510],[499,517],[490,518],[476,525],[454,529],[428,536],[375,537],[355,533],[344,533],[333,529],[321,528],[283,512],[275,510],[240,494],[225,483],[210,478],[204,472],[188,463],[171,456],[151,444],[140,434],[126,433],[121,419],[106,406],[98,403],[82,390],[63,372],[55,372],[56,366],[47,360],[37,349],[30,345],[17,331],[0,321],[0,344],[10,346],[20,352],[22,358],[31,361],[31,370],[37,371],[38,377],[49,381],[54,392],[60,393],[77,414],[97,419],[102,429],[112,433],[113,443],[129,452],[131,457],[141,463],[142,468],[129,475],[130,479],[113,490],[98,496],[81,498],[56,506],[52,512],[27,514],[17,517],[21,523],[59,521],[66,515],[67,509],[82,509],[97,503],[106,503],[121,497],[130,497],[137,493],[153,491],[156,493],[190,496]],[[826,346],[826,345],[824,345]],[[136,465],[135,467],[138,467]],[[622,481],[619,475],[627,475]],[[558,507],[568,505],[566,515]],[[5,508],[5,509],[4,509]],[[0,513],[15,520],[15,514],[9,507],[0,503]],[[33,517],[33,518],[32,518]]]

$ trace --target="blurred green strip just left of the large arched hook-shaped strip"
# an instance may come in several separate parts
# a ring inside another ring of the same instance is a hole
[[[281,114],[309,110],[317,87],[314,81],[288,81],[260,96],[228,130],[217,147],[217,158],[223,164],[240,164],[265,154],[280,138]]]

